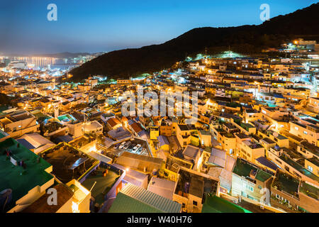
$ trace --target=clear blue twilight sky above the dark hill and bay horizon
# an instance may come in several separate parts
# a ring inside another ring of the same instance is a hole
[[[0,54],[104,52],[164,43],[192,28],[260,24],[312,0],[0,0]],[[47,5],[57,21],[47,21]]]

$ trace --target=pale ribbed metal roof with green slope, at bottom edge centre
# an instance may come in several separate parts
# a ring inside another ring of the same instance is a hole
[[[110,213],[179,213],[181,204],[133,184],[116,196]]]

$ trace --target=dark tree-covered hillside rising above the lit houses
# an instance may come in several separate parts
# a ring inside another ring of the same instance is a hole
[[[186,55],[204,52],[205,48],[208,54],[228,50],[228,46],[244,54],[260,52],[264,48],[279,46],[291,38],[318,37],[318,12],[319,4],[313,4],[285,16],[276,16],[259,26],[194,28],[160,45],[108,52],[70,73],[74,75],[74,81],[93,74],[112,78],[128,77],[171,67],[174,62],[184,60]]]

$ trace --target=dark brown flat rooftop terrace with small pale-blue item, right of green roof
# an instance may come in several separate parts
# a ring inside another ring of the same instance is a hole
[[[63,183],[79,179],[99,162],[67,143],[60,143],[40,155],[53,166],[52,174]]]

